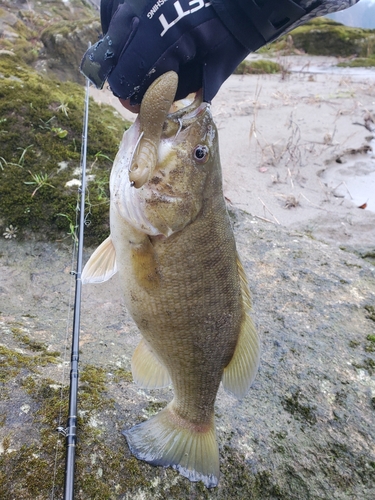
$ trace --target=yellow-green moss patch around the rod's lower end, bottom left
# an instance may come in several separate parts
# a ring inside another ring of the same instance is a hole
[[[112,499],[114,494],[148,488],[147,473],[151,471],[152,475],[153,469],[126,453],[123,439],[113,443],[93,426],[93,418],[108,420],[113,406],[106,395],[105,370],[84,366],[80,381],[75,498]],[[4,500],[49,498],[54,487],[55,497],[60,498],[65,447],[63,438],[59,438],[54,429],[61,425],[59,416],[67,416],[68,387],[60,387],[55,381],[33,372],[22,378],[20,387],[36,406],[33,428],[34,432],[38,430],[39,438],[0,455],[0,497]],[[5,450],[13,448],[12,445],[12,439],[3,441]]]

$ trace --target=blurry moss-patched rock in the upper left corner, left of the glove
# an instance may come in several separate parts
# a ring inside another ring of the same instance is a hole
[[[84,83],[79,64],[89,42],[101,33],[98,11],[84,0],[12,2],[0,10],[0,51],[13,52],[26,64],[58,76],[63,81]]]

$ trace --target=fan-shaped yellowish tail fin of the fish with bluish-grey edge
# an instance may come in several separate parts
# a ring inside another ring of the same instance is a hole
[[[220,470],[214,418],[206,426],[191,424],[174,413],[172,401],[123,434],[138,459],[173,467],[190,481],[203,481],[207,488],[217,486]]]

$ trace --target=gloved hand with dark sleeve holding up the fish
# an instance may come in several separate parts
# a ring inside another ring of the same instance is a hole
[[[249,52],[357,2],[101,0],[105,35],[84,55],[81,71],[98,88],[108,80],[126,107],[140,104],[150,84],[171,70],[179,76],[176,99],[203,88],[210,102]]]

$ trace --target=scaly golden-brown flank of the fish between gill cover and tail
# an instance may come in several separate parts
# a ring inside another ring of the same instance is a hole
[[[188,400],[184,414],[198,422],[207,420],[207,413],[212,417],[222,371],[233,356],[242,320],[235,243],[224,201],[214,204],[212,197],[207,199],[215,206],[205,207],[184,231],[166,239],[144,236],[150,242],[145,274],[146,281],[152,276],[151,286],[145,284],[144,272],[139,273],[138,264],[143,266],[145,259],[137,262],[137,249],[128,248],[131,258],[118,263],[120,275],[127,276],[124,294],[130,314],[168,369],[178,407]],[[118,225],[113,226],[112,239],[117,240]],[[116,247],[116,254],[125,251]],[[212,365],[209,377],[207,362]]]

